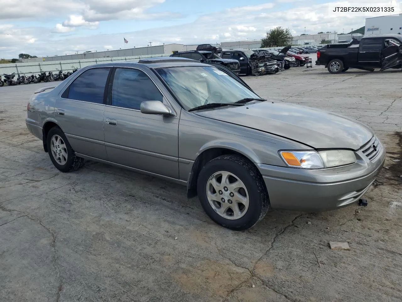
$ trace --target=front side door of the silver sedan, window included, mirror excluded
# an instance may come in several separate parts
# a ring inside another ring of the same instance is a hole
[[[105,108],[109,161],[177,179],[179,114],[143,114],[143,101],[162,101],[172,108],[144,70],[116,68]]]

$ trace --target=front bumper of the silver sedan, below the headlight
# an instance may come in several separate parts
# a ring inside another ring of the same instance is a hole
[[[271,206],[295,211],[330,211],[358,201],[384,165],[385,149],[369,160],[356,152],[357,162],[337,168],[304,170],[257,164]]]

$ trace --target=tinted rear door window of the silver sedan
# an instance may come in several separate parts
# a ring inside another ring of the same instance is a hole
[[[82,73],[68,89],[68,98],[103,104],[105,85],[110,68],[94,68]]]

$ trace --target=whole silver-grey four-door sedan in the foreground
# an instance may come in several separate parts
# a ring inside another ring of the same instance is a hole
[[[232,230],[271,208],[350,205],[385,159],[364,124],[263,99],[225,67],[185,58],[82,68],[37,91],[27,114],[58,170],[91,159],[183,184]]]

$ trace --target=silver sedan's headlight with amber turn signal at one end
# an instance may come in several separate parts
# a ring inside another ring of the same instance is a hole
[[[279,151],[279,154],[291,168],[323,169],[356,162],[355,153],[350,150]]]

